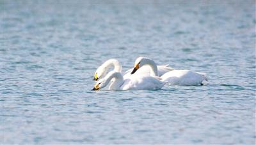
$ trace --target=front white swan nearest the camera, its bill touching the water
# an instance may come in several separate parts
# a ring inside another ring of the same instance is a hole
[[[92,90],[104,88],[112,79],[108,90],[158,90],[165,84],[153,76],[133,76],[124,79],[120,72],[111,71],[104,78],[99,79]]]

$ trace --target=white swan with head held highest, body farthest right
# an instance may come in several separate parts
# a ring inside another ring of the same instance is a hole
[[[156,63],[154,60],[147,57],[138,57],[134,63],[134,69],[131,74],[134,74],[142,66],[150,66],[154,76],[158,76]],[[166,72],[161,76],[161,81],[167,81],[169,85],[204,85],[202,81],[206,80],[205,74],[189,70],[173,70]]]

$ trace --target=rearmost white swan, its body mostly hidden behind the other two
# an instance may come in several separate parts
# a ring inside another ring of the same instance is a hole
[[[122,66],[116,59],[109,59],[106,62],[104,62],[100,67],[98,67],[97,71],[94,73],[94,78],[93,80],[97,81],[100,78],[104,78],[106,76],[107,72],[111,67],[114,67],[113,71],[116,72],[122,72]],[[165,66],[157,66],[157,71],[159,72],[159,76],[163,75],[164,73],[168,71],[172,71],[172,67],[168,67],[168,65]],[[124,79],[131,77],[131,72],[132,69],[129,69],[124,73]],[[143,66],[141,67],[138,72],[136,72],[136,75],[141,75],[141,76],[150,76],[151,69],[149,66]],[[152,72],[151,72],[152,73]]]

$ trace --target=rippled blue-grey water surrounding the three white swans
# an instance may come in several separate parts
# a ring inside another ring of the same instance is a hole
[[[255,1],[1,1],[1,143],[255,144]],[[139,57],[204,86],[92,92]]]

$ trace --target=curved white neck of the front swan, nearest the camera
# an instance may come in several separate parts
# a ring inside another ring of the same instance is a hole
[[[111,71],[107,77],[107,83],[114,79],[114,81],[109,85],[108,90],[121,90],[120,86],[124,83],[124,78],[120,72]]]

